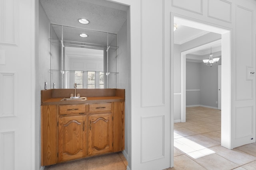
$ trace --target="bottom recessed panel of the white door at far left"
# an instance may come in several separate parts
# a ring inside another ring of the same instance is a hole
[[[15,132],[0,133],[0,170],[15,169]]]

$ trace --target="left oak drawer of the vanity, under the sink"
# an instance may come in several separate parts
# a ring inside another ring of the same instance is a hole
[[[70,114],[74,115],[74,114],[85,114],[85,113],[86,113],[85,104],[59,106],[60,115],[70,115]]]

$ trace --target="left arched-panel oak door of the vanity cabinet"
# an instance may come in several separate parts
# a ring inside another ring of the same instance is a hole
[[[86,116],[59,117],[59,162],[86,156]]]

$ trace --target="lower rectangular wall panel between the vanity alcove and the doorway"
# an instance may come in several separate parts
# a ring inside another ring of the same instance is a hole
[[[164,115],[141,117],[141,163],[164,158],[164,121]]]

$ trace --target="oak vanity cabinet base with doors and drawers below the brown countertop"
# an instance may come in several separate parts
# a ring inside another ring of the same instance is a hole
[[[124,150],[124,102],[41,106],[41,165]]]

